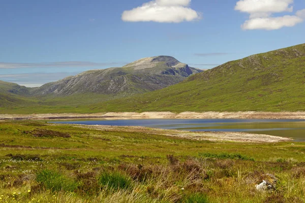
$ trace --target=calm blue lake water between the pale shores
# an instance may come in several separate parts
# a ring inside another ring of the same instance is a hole
[[[263,119],[140,119],[140,120],[85,120],[53,123],[85,125],[145,126],[190,131],[235,131],[271,134],[305,142],[305,120]]]

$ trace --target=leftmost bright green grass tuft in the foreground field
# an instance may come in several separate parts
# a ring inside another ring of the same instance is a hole
[[[64,175],[50,170],[43,170],[36,174],[36,181],[41,183],[46,189],[52,191],[70,191],[77,189],[77,183]]]

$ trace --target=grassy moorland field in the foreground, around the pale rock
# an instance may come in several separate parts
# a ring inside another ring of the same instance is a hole
[[[2,121],[0,202],[304,202],[304,149]]]

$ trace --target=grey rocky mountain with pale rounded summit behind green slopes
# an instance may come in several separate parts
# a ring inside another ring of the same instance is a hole
[[[130,95],[162,89],[202,72],[171,56],[137,60],[123,67],[94,70],[47,83],[31,91],[32,95],[72,95],[83,93]]]

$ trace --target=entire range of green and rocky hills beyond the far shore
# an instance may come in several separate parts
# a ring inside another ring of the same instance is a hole
[[[158,56],[40,88],[0,83],[0,113],[305,111],[305,44],[198,72]]]

